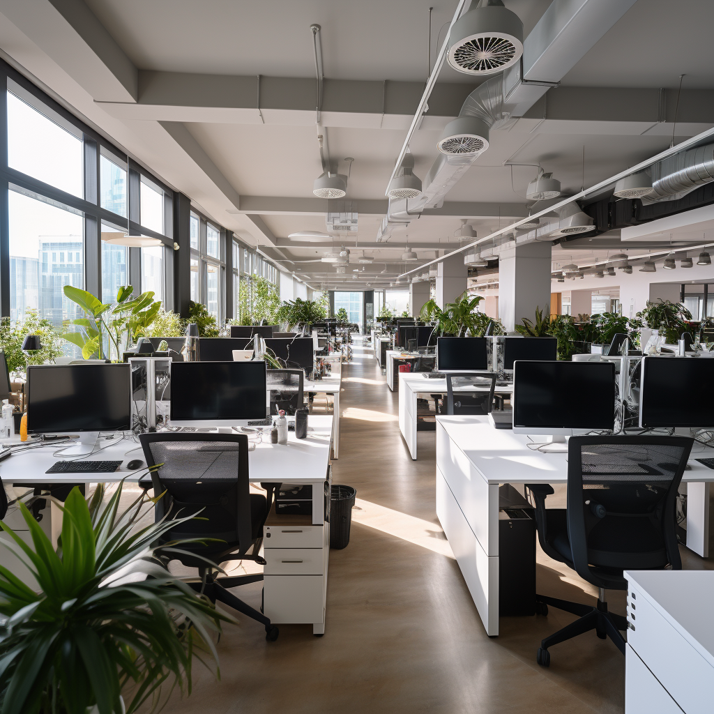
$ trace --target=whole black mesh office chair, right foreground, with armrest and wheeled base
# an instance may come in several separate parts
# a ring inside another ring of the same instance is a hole
[[[546,637],[536,660],[550,665],[548,648],[590,630],[625,653],[627,620],[608,612],[605,590],[627,590],[623,570],[682,568],[677,545],[677,491],[693,440],[684,436],[573,436],[568,443],[568,508],[545,509],[547,484],[528,485],[535,499],[538,540],[545,553],[595,585],[593,608],[536,595],[548,605],[580,615]]]

